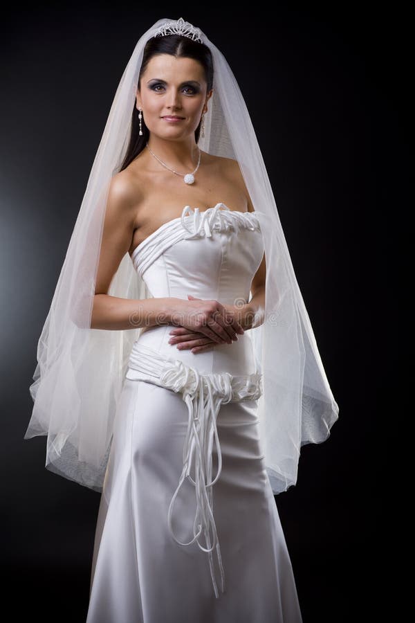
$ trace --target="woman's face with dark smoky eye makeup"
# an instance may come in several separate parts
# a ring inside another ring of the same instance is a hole
[[[176,58],[159,54],[151,58],[137,90],[136,107],[150,132],[167,139],[181,139],[194,134],[205,102],[212,96],[206,93],[203,66],[192,58]],[[169,116],[180,120],[169,120]]]

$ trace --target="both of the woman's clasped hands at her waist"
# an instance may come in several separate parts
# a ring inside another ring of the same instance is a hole
[[[238,339],[237,334],[243,335],[244,329],[237,320],[237,310],[233,305],[222,305],[217,300],[203,300],[191,294],[189,300],[202,301],[190,309],[181,318],[181,324],[170,331],[169,344],[176,345],[178,350],[192,350],[193,353],[210,350],[216,344],[232,344]],[[190,311],[190,313],[189,313]],[[173,321],[174,323],[174,318]]]

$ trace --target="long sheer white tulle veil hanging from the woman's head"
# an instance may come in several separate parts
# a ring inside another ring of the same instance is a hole
[[[39,337],[30,386],[34,405],[24,438],[47,435],[46,468],[96,491],[102,491],[127,361],[141,331],[91,329],[107,194],[127,152],[143,49],[171,21],[159,19],[140,37],[118,85]],[[225,57],[199,32],[212,52],[214,83],[205,136],[198,145],[238,161],[264,237],[266,305],[260,324],[246,334],[262,374],[258,415],[266,470],[279,494],[297,481],[301,446],[329,437],[338,405],[295,278],[246,103]],[[108,294],[151,296],[128,253]]]

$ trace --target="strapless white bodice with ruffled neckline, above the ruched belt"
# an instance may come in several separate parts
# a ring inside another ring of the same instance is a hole
[[[185,206],[181,217],[160,226],[131,255],[151,296],[182,298],[191,294],[228,305],[248,303],[250,286],[264,255],[255,212],[230,210],[223,203],[203,210]],[[138,342],[161,356],[181,359],[208,374],[251,374],[254,357],[248,332],[232,344],[192,353],[169,344],[172,325],[146,328]]]

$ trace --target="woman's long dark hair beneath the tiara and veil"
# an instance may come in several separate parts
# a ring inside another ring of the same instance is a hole
[[[213,60],[210,49],[205,44],[193,41],[189,37],[183,35],[165,35],[164,37],[152,37],[147,42],[142,56],[142,64],[140,69],[140,75],[138,76],[138,90],[140,91],[140,80],[142,74],[145,73],[147,65],[152,57],[157,54],[171,54],[176,58],[192,58],[198,61],[205,71],[205,80],[208,83],[208,92],[213,86]],[[140,122],[138,119],[138,109],[134,104],[132,119],[131,119],[131,134],[129,138],[129,146],[127,153],[125,154],[124,161],[122,162],[120,171],[127,168],[129,163],[135,159],[145,147],[145,144],[149,140],[149,129],[142,119],[142,136],[140,136]],[[199,141],[199,135],[201,132],[201,123],[194,131],[194,138],[196,143]]]

